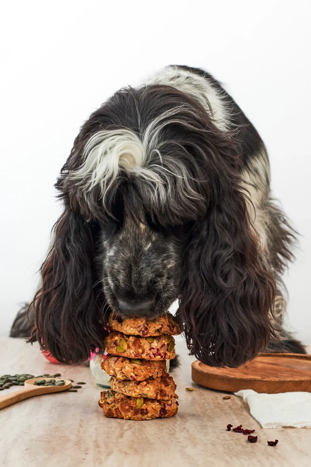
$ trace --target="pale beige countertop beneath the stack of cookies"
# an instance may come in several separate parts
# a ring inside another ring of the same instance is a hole
[[[176,343],[181,366],[171,375],[177,384],[175,417],[145,422],[106,418],[97,405],[100,388],[90,369],[49,363],[38,347],[21,339],[0,338],[0,375],[61,373],[85,381],[78,392],[35,396],[0,410],[0,465],[4,467],[82,466],[310,466],[311,430],[263,430],[241,397],[209,390],[191,380],[184,342]],[[186,391],[192,386],[193,392]],[[16,386],[7,391],[16,390]],[[0,394],[4,394],[1,391]],[[254,429],[257,443],[228,432],[242,424]],[[276,447],[267,441],[278,439]]]

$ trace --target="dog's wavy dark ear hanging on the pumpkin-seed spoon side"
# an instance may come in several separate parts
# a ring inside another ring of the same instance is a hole
[[[41,267],[29,341],[38,341],[62,363],[81,363],[91,350],[104,350],[105,331],[99,322],[104,297],[94,277],[94,229],[66,208],[55,224],[54,245]]]

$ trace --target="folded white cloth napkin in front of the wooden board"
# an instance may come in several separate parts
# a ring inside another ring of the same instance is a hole
[[[253,389],[235,392],[249,404],[251,415],[263,428],[294,426],[311,428],[311,393],[258,394]]]

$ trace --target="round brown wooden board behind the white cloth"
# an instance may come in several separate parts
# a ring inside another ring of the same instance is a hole
[[[196,360],[192,363],[192,379],[201,386],[228,392],[311,392],[311,355],[259,354],[239,368],[207,367]]]

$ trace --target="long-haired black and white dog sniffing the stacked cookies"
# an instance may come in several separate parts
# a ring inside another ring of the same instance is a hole
[[[30,342],[79,363],[104,349],[111,311],[155,317],[178,298],[187,346],[207,365],[237,367],[267,346],[304,352],[280,325],[295,237],[270,198],[266,149],[207,72],[168,66],[116,92],[56,187],[64,212]]]

